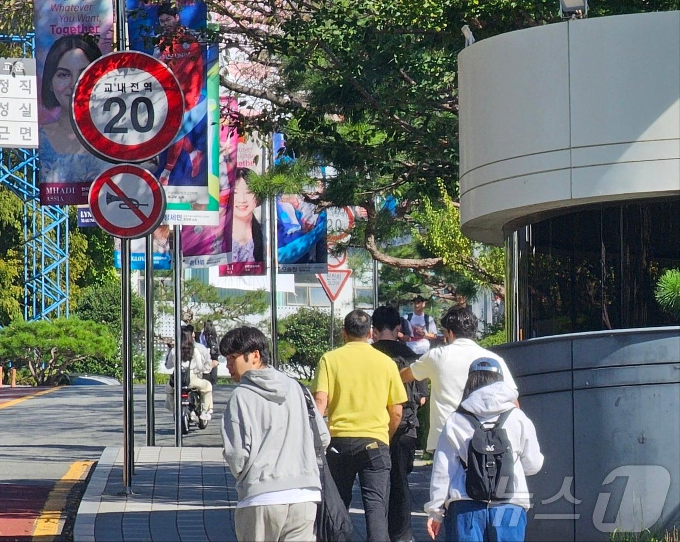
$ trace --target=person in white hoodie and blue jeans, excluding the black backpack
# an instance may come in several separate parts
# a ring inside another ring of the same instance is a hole
[[[524,541],[530,507],[526,476],[541,470],[543,455],[534,424],[515,408],[516,401],[517,390],[503,382],[498,360],[479,358],[472,363],[460,408],[447,419],[432,464],[430,501],[425,505],[432,539],[444,522],[446,541]],[[475,425],[491,428],[501,416],[511,447],[505,453],[512,454],[512,485],[507,487],[513,489],[503,492],[502,500],[474,501],[467,494],[466,477]]]

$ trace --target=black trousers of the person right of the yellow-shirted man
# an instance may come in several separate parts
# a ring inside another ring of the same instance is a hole
[[[392,542],[413,540],[411,532],[411,490],[409,474],[413,471],[413,456],[418,439],[397,430],[390,441],[392,470],[390,471],[390,510],[388,528]]]

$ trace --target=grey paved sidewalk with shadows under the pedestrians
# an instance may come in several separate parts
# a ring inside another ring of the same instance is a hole
[[[133,494],[122,491],[122,450],[107,447],[92,473],[73,529],[75,542],[235,541],[234,478],[221,447],[141,447],[135,450]],[[414,509],[422,510],[428,467],[411,475]],[[365,539],[358,484],[352,518]],[[413,535],[425,540],[424,513],[413,515]]]

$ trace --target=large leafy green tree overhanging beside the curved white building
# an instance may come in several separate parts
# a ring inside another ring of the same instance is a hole
[[[288,152],[296,156],[296,163],[254,178],[255,192],[300,190],[311,165],[333,165],[337,176],[326,182],[324,195],[309,200],[367,209],[367,221],[353,243],[392,267],[435,270],[420,279],[443,294],[458,288],[457,283],[438,284],[443,269],[455,273],[451,279],[471,279],[502,292],[500,250],[466,243],[454,209],[460,196],[460,28],[468,24],[481,40],[557,22],[556,0],[209,4],[220,16],[223,41],[254,63],[251,73],[239,64],[241,80],[221,80],[238,99],[256,99],[245,107],[241,128],[286,133]],[[589,16],[674,9],[675,0],[605,0],[593,5]],[[249,80],[257,84],[248,86]],[[398,205],[393,212],[377,210],[376,197],[393,197]],[[430,234],[437,217],[442,219],[439,231]],[[445,239],[453,246],[438,237],[448,229],[452,232]],[[390,254],[390,239],[414,230],[418,254]]]

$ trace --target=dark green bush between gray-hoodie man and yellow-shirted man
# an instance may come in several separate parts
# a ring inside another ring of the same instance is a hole
[[[311,379],[319,359],[330,350],[330,314],[302,308],[279,320],[279,358],[290,372]],[[333,339],[342,343],[342,321],[335,318]]]

